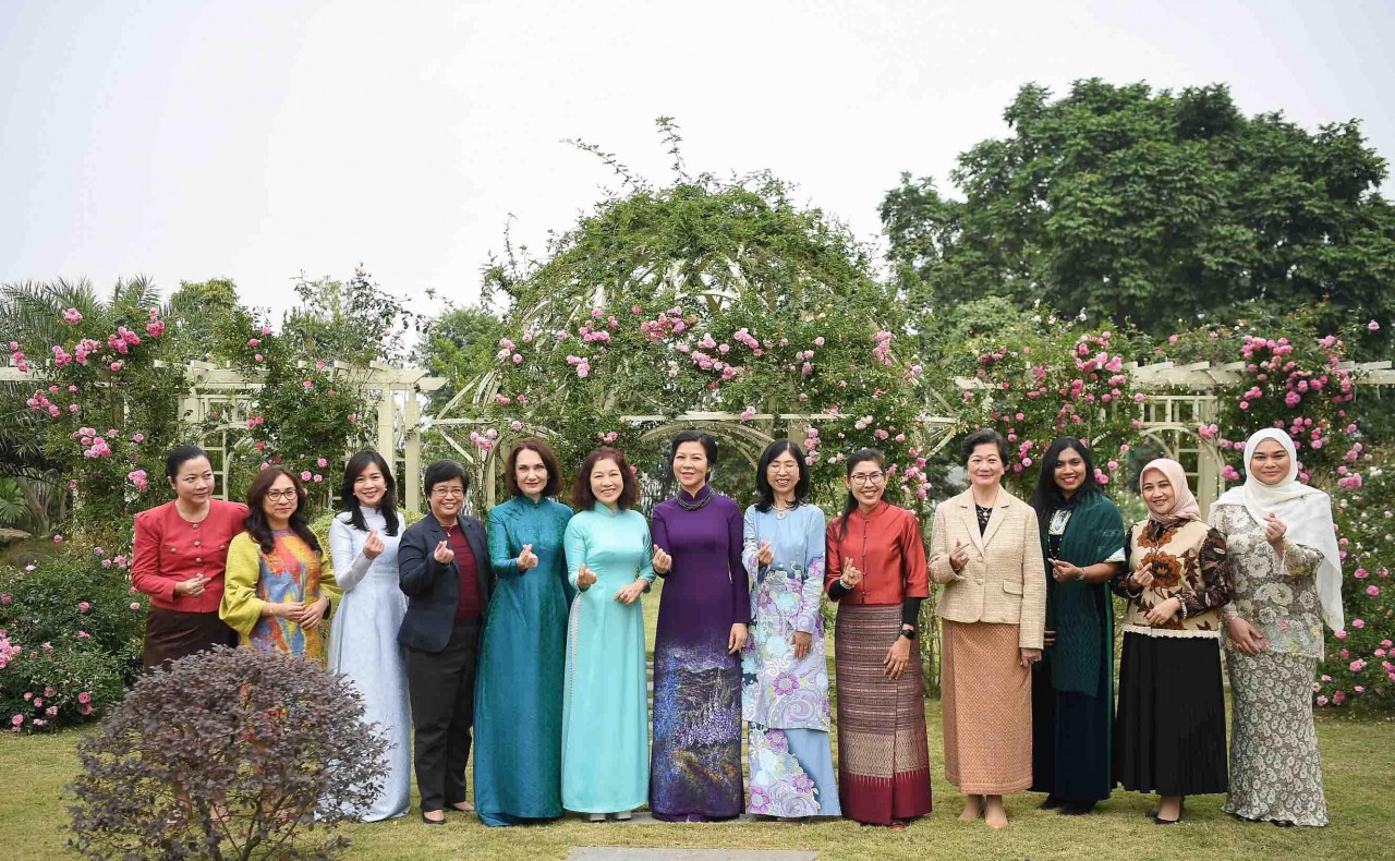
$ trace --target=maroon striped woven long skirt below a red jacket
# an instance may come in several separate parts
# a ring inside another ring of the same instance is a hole
[[[890,825],[932,808],[918,650],[901,678],[883,670],[900,629],[900,604],[838,607],[838,794],[843,814],[858,822]]]

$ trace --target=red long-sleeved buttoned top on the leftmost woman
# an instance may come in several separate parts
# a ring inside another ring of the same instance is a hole
[[[190,523],[174,505],[172,501],[135,515],[131,583],[163,610],[218,613],[227,544],[243,532],[247,507],[211,500],[208,516]],[[174,596],[174,583],[199,574],[208,578],[204,594]]]

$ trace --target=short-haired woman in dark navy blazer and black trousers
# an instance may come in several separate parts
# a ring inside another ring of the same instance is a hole
[[[398,582],[407,596],[398,642],[407,653],[421,821],[445,825],[446,805],[474,811],[465,800],[465,766],[480,631],[490,606],[490,554],[484,525],[460,514],[470,486],[465,467],[437,461],[424,484],[431,516],[409,526],[398,544]]]

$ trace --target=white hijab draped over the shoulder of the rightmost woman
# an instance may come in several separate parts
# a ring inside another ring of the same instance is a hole
[[[1250,469],[1254,451],[1265,440],[1278,441],[1289,452],[1289,474],[1278,484],[1265,484]],[[1322,621],[1332,631],[1346,625],[1342,614],[1342,557],[1332,525],[1332,501],[1321,490],[1299,481],[1297,449],[1286,433],[1267,427],[1250,437],[1244,444],[1244,484],[1225,491],[1215,504],[1240,505],[1260,526],[1265,525],[1265,515],[1272,514],[1288,527],[1290,541],[1320,551],[1322,562],[1317,569],[1317,597],[1322,601]]]

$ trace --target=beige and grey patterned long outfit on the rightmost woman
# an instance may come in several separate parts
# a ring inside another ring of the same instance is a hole
[[[1225,811],[1254,821],[1327,825],[1313,727],[1313,677],[1322,657],[1314,575],[1322,554],[1290,543],[1279,558],[1244,507],[1215,511],[1235,578],[1233,611],[1264,635],[1267,646],[1250,657],[1226,638],[1232,714]]]

